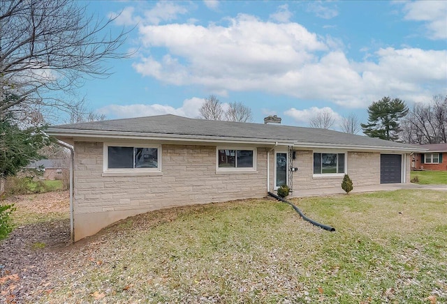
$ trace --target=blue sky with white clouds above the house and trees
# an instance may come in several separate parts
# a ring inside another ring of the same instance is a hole
[[[113,75],[80,95],[108,119],[196,117],[203,98],[242,102],[254,122],[277,114],[337,123],[383,96],[408,105],[447,95],[447,1],[91,1],[110,30],[133,29],[105,61]],[[333,127],[338,129],[337,124]]]

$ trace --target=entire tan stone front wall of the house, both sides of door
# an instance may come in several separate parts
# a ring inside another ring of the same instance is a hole
[[[141,144],[141,143],[139,143]],[[75,142],[75,241],[95,234],[117,220],[160,208],[225,202],[267,195],[267,155],[270,191],[274,191],[275,154],[256,149],[256,172],[217,172],[216,146],[161,145],[161,173],[144,176],[104,174],[103,143]],[[293,193],[340,188],[343,176],[314,176],[312,150],[295,150]],[[410,158],[407,159],[409,182]],[[348,152],[348,174],[354,187],[380,183],[380,153]]]

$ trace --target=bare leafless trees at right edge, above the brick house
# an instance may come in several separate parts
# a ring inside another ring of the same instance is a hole
[[[409,144],[447,143],[447,96],[433,96],[426,105],[416,103],[402,126],[400,137]]]

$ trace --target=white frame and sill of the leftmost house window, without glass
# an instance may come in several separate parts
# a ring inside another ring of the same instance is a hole
[[[129,147],[133,148],[135,153],[135,148],[149,148],[149,149],[157,149],[157,165],[156,168],[135,168],[135,154],[133,154],[133,168],[109,168],[108,167],[108,150],[110,146],[119,146],[119,147]],[[132,174],[132,173],[160,173],[161,172],[161,145],[160,144],[123,144],[123,143],[104,143],[103,145],[103,173],[122,173],[122,174]]]

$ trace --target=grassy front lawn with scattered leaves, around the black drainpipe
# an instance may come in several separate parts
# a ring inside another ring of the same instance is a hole
[[[60,254],[50,303],[446,303],[447,195],[398,190],[170,208]],[[37,249],[36,249],[37,250]]]

